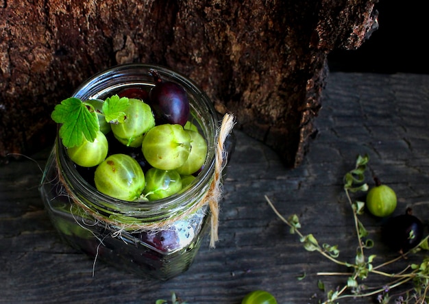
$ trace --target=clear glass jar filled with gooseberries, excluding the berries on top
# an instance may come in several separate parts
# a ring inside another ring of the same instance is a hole
[[[158,201],[113,199],[85,178],[86,173],[70,160],[57,136],[40,193],[53,225],[71,246],[132,273],[167,280],[191,266],[209,226],[210,208],[201,201],[206,199],[216,170],[219,118],[212,102],[186,77],[145,64],[125,64],[103,71],[77,88],[73,97],[103,100],[125,88],[148,91],[154,86],[151,68],[162,79],[183,86],[193,123],[208,143],[206,161],[191,186]],[[231,139],[225,142],[229,153],[234,147]]]

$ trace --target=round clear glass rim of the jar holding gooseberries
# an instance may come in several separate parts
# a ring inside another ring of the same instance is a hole
[[[216,146],[216,137],[217,137],[217,128],[219,127],[219,121],[217,120],[217,112],[212,102],[208,96],[195,84],[191,79],[186,78],[184,75],[171,71],[169,68],[164,66],[152,65],[152,64],[121,64],[118,66],[113,66],[104,71],[96,73],[86,81],[84,81],[75,92],[73,92],[72,97],[76,97],[82,100],[93,98],[93,94],[88,94],[94,91],[94,88],[99,88],[100,81],[108,81],[112,77],[119,77],[116,79],[119,80],[121,75],[126,75],[128,72],[133,71],[149,71],[150,68],[156,69],[158,73],[162,76],[168,76],[173,81],[177,81],[179,84],[184,86],[186,92],[191,94],[191,96],[198,99],[199,102],[204,103],[206,112],[208,113],[208,122],[210,126],[205,126],[210,129],[212,132],[212,137],[209,142],[209,139],[206,136],[208,151],[206,155],[206,161],[204,162],[204,167],[201,169],[201,172],[190,187],[186,190],[173,194],[170,197],[159,199],[156,201],[123,201],[121,199],[114,199],[106,194],[99,192],[95,187],[91,186],[82,175],[77,172],[77,169],[73,165],[73,162],[66,155],[66,148],[62,145],[61,140],[57,136],[57,153],[58,153],[58,162],[61,164],[62,173],[64,170],[67,172],[66,179],[68,182],[73,183],[73,191],[77,191],[80,194],[80,199],[82,195],[90,194],[94,198],[94,201],[91,200],[91,203],[94,203],[97,206],[101,204],[103,210],[106,208],[109,212],[114,212],[117,214],[126,214],[132,216],[146,216],[145,214],[151,214],[151,210],[158,210],[162,214],[158,214],[160,217],[165,217],[171,212],[177,212],[181,210],[182,212],[188,209],[190,206],[189,200],[186,198],[201,197],[201,192],[206,192],[210,182],[212,181],[213,175],[215,173],[215,146]],[[89,97],[89,98],[88,98]],[[193,202],[191,205],[194,205],[198,202]],[[110,206],[110,207],[108,207]],[[97,208],[98,209],[98,208]]]

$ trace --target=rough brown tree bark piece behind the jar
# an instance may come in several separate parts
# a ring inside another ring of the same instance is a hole
[[[220,112],[302,162],[326,56],[356,49],[377,0],[3,1],[0,156],[50,142],[53,106],[104,68],[161,64],[195,80]]]

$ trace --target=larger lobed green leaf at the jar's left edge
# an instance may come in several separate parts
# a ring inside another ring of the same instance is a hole
[[[54,108],[51,118],[60,127],[60,138],[65,147],[79,146],[84,138],[93,142],[99,131],[97,113],[92,105],[82,103],[80,99],[64,99]]]

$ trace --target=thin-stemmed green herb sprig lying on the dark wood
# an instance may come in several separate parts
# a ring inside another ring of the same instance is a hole
[[[358,155],[355,168],[344,176],[344,191],[347,201],[352,207],[356,236],[358,238],[358,249],[354,262],[341,261],[338,258],[340,251],[337,245],[320,245],[311,233],[307,235],[301,233],[299,231],[301,224],[296,214],[286,219],[275,209],[273,203],[271,203],[267,196],[265,196],[265,199],[275,214],[291,228],[290,233],[296,233],[299,236],[299,240],[303,243],[304,249],[307,251],[317,251],[335,264],[352,269],[351,272],[347,273],[317,273],[317,275],[347,275],[347,283],[336,290],[329,290],[326,295],[327,299],[323,304],[334,304],[339,303],[342,299],[362,298],[367,296],[377,296],[379,303],[389,303],[393,297],[389,295],[389,292],[407,282],[413,283],[413,288],[405,290],[399,296],[397,295],[398,303],[425,304],[427,303],[426,299],[429,295],[429,257],[424,257],[420,264],[409,264],[397,273],[386,273],[380,270],[380,268],[397,262],[400,259],[404,259],[406,255],[417,253],[422,249],[428,250],[429,236],[423,238],[414,249],[388,262],[378,264],[377,266],[373,265],[376,255],[369,255],[368,257],[365,255],[365,249],[373,247],[373,240],[367,238],[368,231],[358,218],[358,216],[364,212],[365,203],[362,201],[353,201],[351,194],[355,192],[366,192],[368,190],[368,185],[365,183],[365,171],[367,170],[368,162],[369,157],[367,155]],[[381,288],[369,288],[367,284],[363,283],[363,280],[368,281],[369,275],[381,275],[387,277],[389,281]],[[321,290],[325,288],[321,280],[317,282],[317,286]]]

